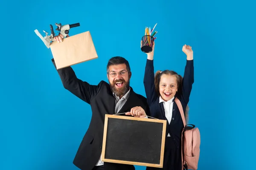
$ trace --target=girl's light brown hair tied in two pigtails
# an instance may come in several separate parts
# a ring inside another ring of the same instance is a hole
[[[154,84],[155,84],[155,89],[156,89],[157,95],[160,96],[159,83],[160,83],[161,76],[163,74],[176,77],[177,86],[178,86],[177,93],[182,94],[182,79],[183,79],[183,77],[181,75],[177,74],[175,71],[165,70],[165,71],[157,71],[155,74]],[[186,124],[187,124],[189,121],[189,106],[188,105],[186,106],[185,119],[186,119]]]

